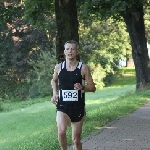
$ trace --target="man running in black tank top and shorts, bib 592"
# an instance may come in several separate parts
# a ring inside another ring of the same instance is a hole
[[[56,104],[56,122],[61,150],[67,150],[66,130],[70,122],[73,148],[82,150],[81,133],[85,115],[84,92],[95,92],[96,88],[88,66],[76,59],[79,54],[78,43],[74,40],[67,41],[64,48],[66,60],[55,66],[51,81],[53,88],[51,101]]]

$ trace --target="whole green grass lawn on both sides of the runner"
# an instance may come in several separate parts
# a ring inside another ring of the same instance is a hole
[[[150,101],[150,90],[137,93],[133,83],[134,76],[130,80],[128,76],[119,76],[110,87],[86,93],[82,138]],[[24,102],[23,106],[17,103],[16,109],[13,104],[11,111],[0,113],[0,150],[59,150],[56,111],[49,99],[40,99],[37,104]],[[71,127],[67,137],[71,145]]]

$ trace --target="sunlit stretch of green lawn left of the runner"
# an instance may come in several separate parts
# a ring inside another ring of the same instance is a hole
[[[48,101],[0,113],[0,150],[57,149],[55,114]]]

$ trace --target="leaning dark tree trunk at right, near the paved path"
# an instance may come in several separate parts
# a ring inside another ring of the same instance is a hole
[[[123,16],[131,39],[132,57],[136,71],[136,90],[143,90],[149,83],[148,49],[145,37],[143,6],[134,7],[132,13]]]

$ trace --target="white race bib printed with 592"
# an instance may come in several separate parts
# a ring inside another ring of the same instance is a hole
[[[62,90],[63,101],[78,101],[78,90]]]

